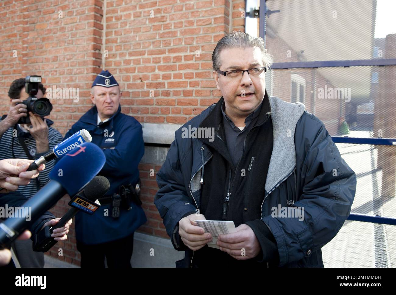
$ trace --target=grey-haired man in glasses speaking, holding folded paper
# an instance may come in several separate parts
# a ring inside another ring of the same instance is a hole
[[[268,97],[262,38],[227,34],[212,62],[222,97],[176,131],[157,174],[154,203],[186,251],[176,266],[323,267],[321,248],[349,216],[355,173],[303,104]],[[214,140],[186,136],[188,125],[215,130]],[[283,214],[294,209],[303,214]],[[201,219],[233,221],[236,233],[208,247]]]

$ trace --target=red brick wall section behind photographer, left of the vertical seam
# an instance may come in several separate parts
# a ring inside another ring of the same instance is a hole
[[[99,0],[60,1],[64,4],[58,5],[58,1],[13,2],[0,3],[0,111],[8,111],[8,88],[17,78],[36,74],[47,88],[78,87],[78,103],[51,100],[54,108],[49,118],[65,134],[90,107],[89,88],[101,65],[103,4]]]

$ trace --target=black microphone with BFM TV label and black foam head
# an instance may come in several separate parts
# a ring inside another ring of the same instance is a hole
[[[33,251],[36,252],[47,252],[53,245],[58,241],[55,241],[51,234],[55,228],[61,228],[68,222],[74,215],[79,211],[86,212],[88,214],[95,213],[96,209],[100,207],[99,204],[95,203],[95,200],[103,197],[110,188],[110,182],[104,176],[95,176],[93,180],[87,184],[85,189],[78,193],[76,196],[71,198],[69,205],[72,207],[67,211],[65,215],[55,224],[53,227],[46,226],[37,235],[33,237]]]

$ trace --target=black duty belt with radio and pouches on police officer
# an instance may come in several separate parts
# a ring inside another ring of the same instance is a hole
[[[130,210],[132,207],[130,201],[133,201],[138,206],[142,205],[140,200],[140,178],[137,180],[135,186],[132,184],[122,185],[118,188],[117,193],[113,193],[110,197],[99,198],[101,205],[111,204],[111,216],[113,218],[120,217],[120,209]]]

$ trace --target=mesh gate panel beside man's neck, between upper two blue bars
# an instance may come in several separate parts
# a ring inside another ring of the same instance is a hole
[[[302,102],[331,136],[396,138],[396,66],[271,69],[269,96]]]

